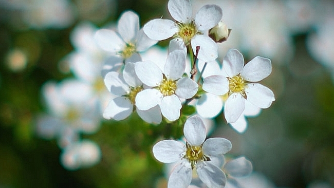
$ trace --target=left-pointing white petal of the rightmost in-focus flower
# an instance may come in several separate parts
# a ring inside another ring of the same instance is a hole
[[[213,75],[203,80],[203,90],[217,96],[225,95],[229,91],[229,81],[221,75]]]

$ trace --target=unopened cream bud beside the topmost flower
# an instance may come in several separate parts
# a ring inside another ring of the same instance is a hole
[[[226,24],[220,21],[215,27],[209,30],[209,36],[216,43],[222,43],[227,40],[231,32],[231,29],[228,29]]]

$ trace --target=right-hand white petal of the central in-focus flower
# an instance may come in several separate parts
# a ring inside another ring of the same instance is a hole
[[[190,99],[197,93],[198,84],[188,77],[183,77],[176,83],[175,94],[181,99]]]

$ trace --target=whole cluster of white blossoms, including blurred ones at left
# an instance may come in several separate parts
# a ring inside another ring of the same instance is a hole
[[[38,125],[41,136],[59,140],[66,168],[76,170],[100,160],[98,146],[80,135],[97,131],[101,114],[120,121],[137,113],[151,124],[184,124],[185,142],[162,140],[153,146],[158,161],[177,162],[168,187],[188,187],[193,170],[208,187],[225,187],[235,182],[233,177],[252,171],[245,157],[225,164],[223,155],[232,143],[206,139],[203,118],[224,110],[226,122],[244,133],[245,117],[257,115],[275,100],[271,89],[259,83],[271,73],[271,61],[257,56],[245,63],[237,49],[218,58],[217,43],[228,40],[231,30],[217,5],[204,5],[193,15],[189,0],[170,0],[168,10],[173,20],[156,18],[140,28],[137,13],[125,11],[116,28],[83,23],[80,28],[85,32],[75,30],[71,35],[76,50],[64,61],[75,78],[45,84],[50,115]],[[143,58],[142,53],[162,40],[170,40],[162,61]],[[187,107],[194,111],[182,114]]]

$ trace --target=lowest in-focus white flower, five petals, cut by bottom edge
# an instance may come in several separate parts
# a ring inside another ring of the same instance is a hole
[[[169,177],[168,187],[188,187],[192,169],[196,168],[199,179],[208,187],[224,187],[226,176],[211,158],[226,154],[232,144],[225,138],[206,140],[206,128],[198,116],[192,116],[184,123],[183,133],[187,143],[162,140],[153,146],[154,157],[163,163],[179,161]]]

